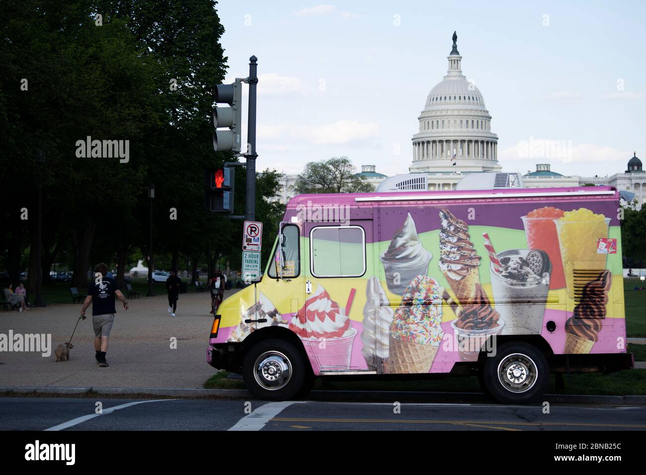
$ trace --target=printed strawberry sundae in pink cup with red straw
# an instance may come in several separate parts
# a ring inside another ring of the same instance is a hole
[[[357,330],[350,325],[348,313],[356,290],[351,289],[346,308],[339,308],[322,285],[292,317],[289,329],[305,346],[315,374],[350,367],[352,343]]]

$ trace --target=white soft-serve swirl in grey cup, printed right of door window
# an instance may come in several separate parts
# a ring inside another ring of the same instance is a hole
[[[408,213],[402,227],[395,231],[390,246],[379,258],[384,265],[388,290],[402,295],[411,280],[417,275],[426,275],[432,257],[422,246],[413,217]]]

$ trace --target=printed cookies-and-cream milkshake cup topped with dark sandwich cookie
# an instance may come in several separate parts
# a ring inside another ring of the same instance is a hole
[[[511,249],[490,264],[495,310],[505,321],[501,335],[539,334],[550,284],[550,260],[540,249]]]

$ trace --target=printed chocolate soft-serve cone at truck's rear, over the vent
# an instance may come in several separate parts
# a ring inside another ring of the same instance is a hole
[[[574,315],[565,322],[565,353],[588,354],[599,339],[605,319],[612,273],[605,270],[583,287]]]

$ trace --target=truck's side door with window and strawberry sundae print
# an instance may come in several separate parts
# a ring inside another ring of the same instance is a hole
[[[364,333],[366,282],[374,275],[373,220],[304,223],[307,354],[320,373],[375,371],[364,356],[375,335]]]

